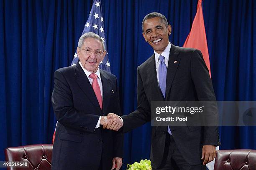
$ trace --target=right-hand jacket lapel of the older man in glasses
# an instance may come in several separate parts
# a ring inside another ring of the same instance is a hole
[[[100,77],[101,77],[103,94],[104,94],[103,105],[102,105],[102,114],[104,116],[105,114],[107,114],[107,106],[108,106],[108,103],[110,102],[110,96],[113,89],[111,88],[112,86],[110,83],[110,78],[102,70],[100,70]]]

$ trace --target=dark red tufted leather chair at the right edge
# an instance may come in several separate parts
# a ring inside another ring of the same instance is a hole
[[[218,150],[214,170],[256,170],[256,150]]]

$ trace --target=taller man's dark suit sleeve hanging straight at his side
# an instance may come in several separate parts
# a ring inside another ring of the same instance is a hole
[[[194,50],[191,58],[191,76],[195,85],[197,97],[199,101],[213,101],[205,102],[208,105],[205,107],[205,125],[204,126],[204,141],[203,145],[220,145],[218,126],[207,126],[207,121],[218,122],[218,108],[216,98],[212,87],[212,81],[209,75],[207,66],[202,57],[200,50]]]

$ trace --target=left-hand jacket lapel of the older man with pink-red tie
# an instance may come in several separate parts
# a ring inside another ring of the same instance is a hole
[[[76,69],[75,70],[75,75],[76,75],[77,84],[79,85],[81,90],[89,98],[89,100],[95,106],[96,110],[101,115],[99,102],[97,100],[95,92],[93,91],[92,85],[90,84],[86,74],[84,73],[84,70],[82,70],[82,67],[79,65],[79,62],[77,62],[77,64],[74,67]]]

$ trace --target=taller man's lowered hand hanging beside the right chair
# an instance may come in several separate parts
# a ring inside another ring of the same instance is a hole
[[[217,151],[214,145],[203,145],[202,148],[202,160],[204,160],[203,165],[210,163],[214,158],[216,158]]]

